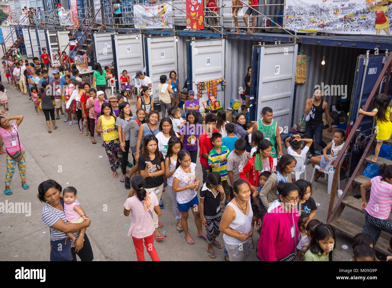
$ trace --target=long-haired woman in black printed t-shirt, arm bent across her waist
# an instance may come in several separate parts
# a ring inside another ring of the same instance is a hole
[[[165,174],[165,162],[162,153],[158,150],[158,139],[154,135],[147,135],[143,138],[143,154],[139,156],[138,171],[140,176],[145,179],[144,188],[147,193],[155,193],[158,199],[161,198],[163,191],[163,174]],[[163,224],[158,221],[158,215],[152,212],[154,220],[154,238],[162,241],[163,236],[158,228]]]

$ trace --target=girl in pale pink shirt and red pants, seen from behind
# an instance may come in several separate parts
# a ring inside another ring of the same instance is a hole
[[[144,186],[145,180],[142,176],[135,175],[131,179],[132,189],[124,203],[124,216],[129,216],[132,210],[132,222],[128,236],[132,235],[138,261],[144,261],[143,239],[152,261],[160,261],[154,247],[155,227],[152,211],[161,216],[162,210],[155,191],[149,193],[143,188]]]

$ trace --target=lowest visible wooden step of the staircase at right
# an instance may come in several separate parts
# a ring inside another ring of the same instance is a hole
[[[348,237],[354,238],[355,235],[357,235],[358,233],[362,232],[362,228],[348,222],[347,220],[344,220],[342,218],[336,218],[334,220],[331,221],[330,226],[332,226],[332,228],[335,228],[336,230],[342,232],[343,234],[345,234]],[[347,245],[347,246],[351,246],[351,245]],[[383,237],[379,237],[377,244],[376,244],[376,250],[378,252],[380,252],[381,254],[384,254],[386,256],[390,256],[390,252],[388,252],[388,248],[389,248],[389,239],[385,239]]]

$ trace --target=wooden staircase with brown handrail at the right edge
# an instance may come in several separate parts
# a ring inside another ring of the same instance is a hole
[[[387,94],[388,91],[388,84],[389,84],[389,78],[390,78],[390,71],[391,71],[391,65],[392,65],[392,53],[389,53],[389,57],[387,62],[385,63],[383,70],[381,71],[379,78],[377,79],[376,84],[374,85],[372,92],[370,93],[370,96],[368,100],[366,101],[366,104],[363,108],[364,111],[367,111],[370,103],[373,102],[374,97],[376,96],[376,92],[378,94],[378,88],[379,85],[381,85],[381,81],[383,80],[383,77],[385,76],[385,73],[387,73],[386,77],[386,82],[385,82],[385,93]],[[392,105],[392,101],[389,103],[389,105]],[[343,146],[343,149],[339,152],[338,158],[335,160],[334,167],[337,169],[334,175],[334,182],[332,184],[332,192],[331,192],[331,199],[330,199],[330,205],[329,205],[329,210],[328,210],[328,220],[327,224],[332,226],[335,230],[340,231],[341,233],[349,236],[349,237],[354,237],[358,233],[362,232],[363,228],[363,223],[361,223],[360,226],[343,219],[341,217],[341,214],[344,210],[344,208],[349,208],[353,209],[356,211],[356,213],[362,213],[364,214],[365,211],[361,209],[361,204],[362,201],[353,197],[354,194],[354,189],[357,185],[361,185],[363,183],[366,183],[367,181],[370,180],[370,178],[367,178],[362,175],[363,171],[365,170],[366,166],[368,163],[372,163],[378,166],[381,166],[383,163],[386,163],[387,165],[392,165],[392,161],[385,159],[385,158],[380,158],[378,157],[378,160],[376,163],[372,162],[372,156],[374,154],[374,150],[376,147],[376,133],[372,135],[367,147],[363,151],[362,157],[359,160],[359,163],[357,167],[355,168],[351,178],[348,180],[347,186],[345,187],[345,190],[342,194],[342,196],[338,199],[338,203],[336,206],[333,208],[335,200],[335,195],[336,195],[336,187],[337,187],[337,182],[338,182],[338,175],[339,175],[339,162],[341,161],[341,158],[346,151],[349,143],[353,139],[354,135],[356,134],[356,130],[359,127],[359,124],[361,123],[363,119],[363,114],[359,114],[356,122],[354,123],[354,126],[352,130],[350,131],[349,136],[347,137],[347,140],[345,142],[345,145]],[[384,144],[387,145],[392,145],[391,140],[383,141]],[[359,194],[359,193],[356,193]],[[368,196],[368,195],[367,195]],[[368,199],[367,199],[368,200]],[[333,210],[332,210],[333,208]],[[359,216],[359,215],[358,215]],[[358,217],[359,218],[359,217]],[[358,219],[357,218],[357,219]],[[390,216],[390,219],[391,216]],[[391,238],[391,234],[388,234],[386,232],[381,232],[381,235],[377,241],[377,244],[375,246],[375,249],[384,255],[390,255],[391,253],[388,252],[389,248],[389,240]]]

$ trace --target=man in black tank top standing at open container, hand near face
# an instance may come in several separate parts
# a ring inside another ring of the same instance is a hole
[[[322,99],[321,89],[314,89],[314,96],[311,99],[306,100],[305,103],[305,115],[306,115],[306,138],[313,139],[317,145],[323,147],[327,146],[327,143],[323,141],[323,112],[328,122],[328,132],[332,132],[331,118],[329,116],[328,103]],[[314,145],[312,144],[309,149],[310,157],[314,156]]]

